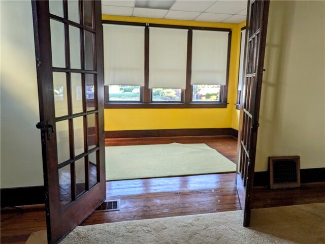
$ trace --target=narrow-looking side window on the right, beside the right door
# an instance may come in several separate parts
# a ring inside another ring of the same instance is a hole
[[[239,57],[239,75],[238,75],[238,87],[237,87],[237,102],[236,109],[240,108],[240,102],[242,101],[242,85],[245,80],[245,37],[246,37],[246,27],[241,30],[241,40],[240,40],[240,57]]]

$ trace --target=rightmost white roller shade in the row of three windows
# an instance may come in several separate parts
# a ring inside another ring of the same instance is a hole
[[[225,85],[228,32],[193,30],[192,84]]]

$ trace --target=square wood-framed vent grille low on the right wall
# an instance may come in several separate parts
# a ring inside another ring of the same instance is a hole
[[[270,157],[270,187],[300,187],[300,157]]]

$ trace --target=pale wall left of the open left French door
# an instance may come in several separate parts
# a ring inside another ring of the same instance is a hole
[[[43,185],[30,1],[1,4],[1,188]]]

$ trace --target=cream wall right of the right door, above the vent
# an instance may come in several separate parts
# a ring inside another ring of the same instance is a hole
[[[268,157],[325,167],[325,2],[271,1],[255,171]]]

